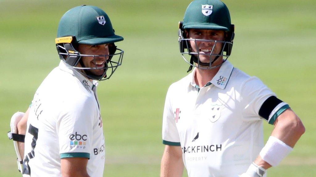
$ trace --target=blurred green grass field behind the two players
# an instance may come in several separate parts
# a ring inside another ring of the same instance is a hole
[[[7,138],[59,59],[58,21],[70,8],[95,5],[125,38],[123,65],[98,94],[106,138],[104,176],[159,176],[162,111],[168,86],[186,75],[177,28],[191,0],[0,0],[0,177],[19,177]],[[229,60],[259,77],[301,117],[306,133],[269,177],[316,176],[316,1],[226,0],[236,26]],[[265,125],[265,139],[272,126]],[[187,176],[184,173],[184,176]]]

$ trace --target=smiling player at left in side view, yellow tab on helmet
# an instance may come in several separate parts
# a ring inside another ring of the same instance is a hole
[[[55,39],[60,64],[41,83],[27,113],[11,119],[8,135],[23,177],[103,176],[105,140],[96,88],[97,80],[109,79],[122,63],[124,51],[114,44],[119,41],[123,37],[114,34],[98,7],[82,5],[63,15]]]

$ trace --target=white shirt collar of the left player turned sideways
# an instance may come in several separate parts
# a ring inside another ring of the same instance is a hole
[[[58,68],[62,71],[68,72],[77,79],[86,87],[89,89],[93,89],[94,87],[98,86],[98,82],[93,80],[92,82],[87,78],[84,77],[79,71],[77,71],[75,68],[69,66],[64,62],[64,60],[61,60],[59,63]]]

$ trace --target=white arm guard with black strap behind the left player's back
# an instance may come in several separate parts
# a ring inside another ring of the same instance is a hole
[[[19,149],[18,142],[24,142],[25,135],[18,134],[17,124],[20,122],[20,120],[22,119],[23,116],[24,116],[24,112],[16,112],[13,114],[13,116],[11,117],[11,121],[10,121],[11,131],[8,132],[9,139],[10,140],[13,139],[13,145],[14,145],[16,156],[17,156],[18,170],[21,173],[22,173],[22,169],[23,169],[23,167],[22,167],[23,158],[20,155],[20,149]]]

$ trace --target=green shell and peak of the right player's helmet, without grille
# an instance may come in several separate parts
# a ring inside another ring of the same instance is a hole
[[[231,30],[230,14],[220,0],[195,0],[185,11],[183,29]]]

